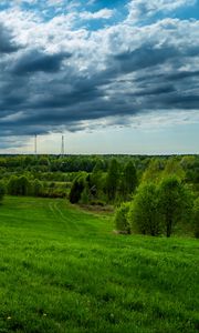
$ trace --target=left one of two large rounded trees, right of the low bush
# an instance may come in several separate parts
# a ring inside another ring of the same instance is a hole
[[[138,188],[129,210],[129,221],[132,229],[142,234],[156,236],[161,233],[156,184],[144,183]]]

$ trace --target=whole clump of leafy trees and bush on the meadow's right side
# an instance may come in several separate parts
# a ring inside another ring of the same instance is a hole
[[[176,175],[160,183],[146,182],[133,200],[116,210],[115,225],[122,233],[166,235],[185,223],[199,238],[199,198]]]

